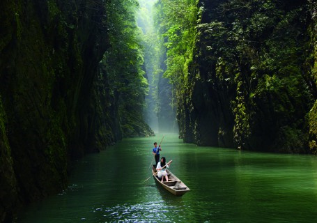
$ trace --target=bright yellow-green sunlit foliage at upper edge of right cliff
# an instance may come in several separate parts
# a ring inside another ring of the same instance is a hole
[[[155,5],[155,24],[167,47],[167,70],[177,100],[189,84],[188,66],[196,40],[198,8],[194,0],[161,0]]]

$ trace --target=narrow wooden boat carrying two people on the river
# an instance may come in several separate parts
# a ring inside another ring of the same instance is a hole
[[[167,176],[169,177],[168,182],[166,181],[163,181],[163,183],[161,182],[161,180],[157,177],[155,166],[152,167],[152,174],[155,180],[157,181],[157,183],[162,185],[162,187],[164,187],[166,190],[168,190],[169,192],[171,192],[172,194],[176,196],[182,196],[186,192],[190,191],[190,188],[188,188],[185,185],[185,183],[180,181],[180,179],[178,179],[177,176],[172,174],[172,172],[169,171],[168,169],[167,169]]]

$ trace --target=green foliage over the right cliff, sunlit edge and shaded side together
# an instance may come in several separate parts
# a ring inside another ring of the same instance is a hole
[[[157,29],[168,49],[164,75],[183,103],[181,128],[198,131],[194,141],[205,127],[202,111],[192,111],[208,107],[215,125],[210,131],[232,131],[239,148],[305,151],[305,117],[316,94],[309,75],[314,69],[303,72],[305,63],[316,63],[307,61],[308,4],[201,0],[198,9],[195,1],[162,0],[156,6]]]

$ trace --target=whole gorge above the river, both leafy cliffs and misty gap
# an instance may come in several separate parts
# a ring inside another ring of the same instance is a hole
[[[0,8],[0,222],[65,190],[74,160],[153,130],[198,146],[317,154],[316,1]]]

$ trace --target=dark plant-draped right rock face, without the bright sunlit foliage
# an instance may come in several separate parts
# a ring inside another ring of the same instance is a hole
[[[316,3],[199,1],[199,7],[191,88],[178,107],[184,140],[316,153]]]

